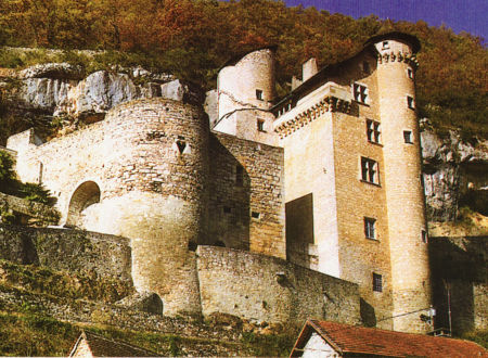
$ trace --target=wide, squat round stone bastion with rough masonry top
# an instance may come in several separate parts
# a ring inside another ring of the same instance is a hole
[[[131,239],[134,286],[157,293],[165,315],[201,314],[194,250],[207,227],[207,116],[150,99],[113,108],[102,125],[98,231]]]

